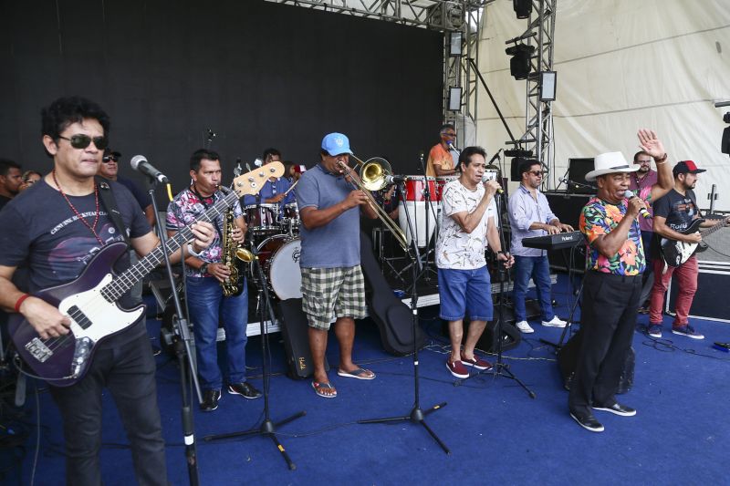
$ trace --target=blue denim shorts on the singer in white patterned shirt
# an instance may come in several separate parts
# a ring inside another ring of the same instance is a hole
[[[472,321],[491,321],[494,315],[492,284],[486,265],[474,270],[439,268],[441,318],[460,321],[468,311]]]

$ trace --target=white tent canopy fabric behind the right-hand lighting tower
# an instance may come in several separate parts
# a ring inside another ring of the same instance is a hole
[[[512,2],[485,9],[480,70],[518,137],[525,131],[525,81],[509,74],[505,41],[521,35]],[[720,151],[730,99],[730,3],[727,0],[558,0],[553,102],[554,167],[550,187],[568,158],[620,150],[628,160],[640,150],[636,131],[655,129],[671,163],[694,160],[703,208],[712,184],[714,209],[730,211],[730,158]],[[477,140],[495,152],[507,140],[486,96],[479,99]]]

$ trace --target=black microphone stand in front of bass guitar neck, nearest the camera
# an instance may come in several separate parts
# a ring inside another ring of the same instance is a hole
[[[172,291],[172,302],[175,305],[175,315],[172,317],[172,326],[175,329],[175,334],[180,336],[179,338],[172,338],[174,345],[175,356],[178,360],[178,368],[180,368],[180,385],[181,385],[181,398],[183,400],[183,408],[181,410],[183,416],[183,438],[185,442],[185,461],[188,464],[188,480],[193,486],[200,484],[200,477],[198,475],[198,459],[197,450],[195,446],[195,427],[193,423],[193,407],[191,404],[190,396],[188,395],[188,387],[194,386],[195,391],[198,395],[198,403],[203,401],[203,397],[200,390],[200,384],[198,383],[198,374],[193,361],[195,355],[193,350],[193,336],[190,334],[190,324],[183,313],[183,305],[180,300],[180,294],[177,291],[177,285],[175,284],[175,277],[172,274],[172,264],[170,264],[170,256],[167,254],[167,235],[165,234],[160,221],[159,212],[157,208],[157,200],[155,199],[155,187],[158,184],[156,179],[150,178],[154,181],[151,187],[150,199],[152,202],[152,209],[154,210],[154,219],[159,229],[158,233],[160,236],[160,246],[162,247],[162,254],[165,260],[165,269],[167,271],[167,277],[170,281],[170,289]],[[181,248],[181,253],[184,252],[184,247]],[[184,258],[181,258],[183,262],[183,279],[184,271]],[[185,363],[185,357],[187,356],[187,363]],[[187,365],[187,366],[186,366]],[[190,375],[188,375],[188,369]]]

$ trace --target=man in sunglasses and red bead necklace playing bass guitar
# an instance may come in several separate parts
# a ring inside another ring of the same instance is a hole
[[[28,270],[27,292],[67,284],[78,278],[99,250],[124,241],[141,256],[159,244],[130,191],[110,181],[124,228],[117,228],[100,201],[94,176],[107,147],[110,121],[99,105],[84,98],[59,98],[42,111],[43,146],[53,166],[32,191],[21,192],[0,212],[0,306],[22,314],[37,341],[68,336],[71,319],[55,305],[25,294],[11,282],[18,265]],[[201,252],[214,237],[209,223],[195,223],[193,243]],[[180,260],[180,251],[172,261]],[[118,273],[129,267],[128,253],[114,264]],[[130,308],[129,293],[115,304]],[[81,303],[79,303],[81,305]],[[85,305],[85,304],[84,304]],[[101,305],[96,303],[95,305]],[[74,314],[78,319],[78,315]],[[78,319],[78,324],[83,321]],[[61,412],[66,439],[68,484],[101,484],[102,393],[108,388],[119,410],[140,484],[167,484],[164,441],[157,406],[155,361],[143,319],[98,342],[86,373],[67,387],[53,386],[51,396]],[[107,478],[109,480],[109,478]]]

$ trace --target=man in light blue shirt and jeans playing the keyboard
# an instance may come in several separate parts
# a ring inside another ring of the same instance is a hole
[[[515,276],[512,301],[515,306],[515,322],[522,333],[535,330],[527,323],[525,297],[530,278],[537,288],[542,325],[565,327],[566,322],[553,313],[550,293],[550,267],[547,251],[527,248],[522,244],[524,238],[572,232],[569,224],[564,224],[550,210],[545,194],[539,191],[542,183],[542,165],[537,160],[525,160],[520,164],[520,185],[509,198],[509,222],[512,228],[510,252],[515,255]]]

